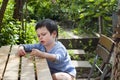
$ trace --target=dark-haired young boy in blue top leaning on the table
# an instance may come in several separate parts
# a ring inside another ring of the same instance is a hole
[[[66,48],[56,40],[57,24],[51,19],[45,19],[37,23],[35,30],[40,43],[20,46],[18,55],[23,56],[26,52],[31,52],[32,56],[46,58],[53,80],[74,80],[75,67],[71,63]]]

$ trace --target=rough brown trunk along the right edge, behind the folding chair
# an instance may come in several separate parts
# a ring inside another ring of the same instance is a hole
[[[116,42],[114,54],[113,54],[113,64],[112,64],[112,75],[111,80],[120,80],[120,0],[118,0],[118,11],[117,11],[117,27],[113,39]]]

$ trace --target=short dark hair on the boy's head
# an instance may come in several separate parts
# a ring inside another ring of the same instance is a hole
[[[39,21],[36,26],[35,26],[35,30],[37,30],[38,28],[41,27],[46,27],[48,29],[48,31],[50,32],[50,34],[52,34],[54,31],[56,31],[57,35],[56,37],[58,37],[58,27],[56,22],[54,22],[51,19],[44,19],[42,21]]]

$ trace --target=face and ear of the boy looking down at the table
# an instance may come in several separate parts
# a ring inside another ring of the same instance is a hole
[[[38,28],[36,33],[40,43],[44,46],[49,46],[55,41],[56,32],[54,31],[52,34],[50,34],[46,27]]]

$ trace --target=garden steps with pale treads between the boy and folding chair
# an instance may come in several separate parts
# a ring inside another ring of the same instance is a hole
[[[95,38],[77,38],[77,39],[72,38],[58,40],[63,43],[63,45],[67,48],[68,52],[72,51],[73,57],[75,55],[78,55],[78,57],[80,58],[79,60],[73,60],[73,58],[71,57],[72,63],[77,70],[77,78],[87,77],[92,66],[88,61],[85,60],[84,55],[86,53],[84,47],[85,45],[90,44],[90,42],[92,46],[96,46],[99,39],[95,37]],[[84,73],[81,74],[81,71],[85,72],[85,75]]]

